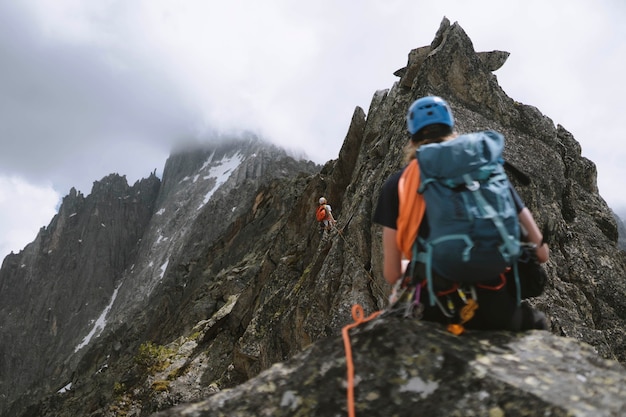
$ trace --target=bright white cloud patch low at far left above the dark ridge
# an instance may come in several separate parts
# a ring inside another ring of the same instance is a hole
[[[19,177],[0,176],[0,259],[32,242],[56,214],[59,194]]]

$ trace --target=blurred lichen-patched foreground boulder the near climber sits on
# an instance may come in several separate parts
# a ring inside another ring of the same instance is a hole
[[[621,416],[626,372],[545,332],[469,332],[394,317],[353,330],[357,416]],[[153,417],[343,416],[341,338],[316,343],[233,390]]]

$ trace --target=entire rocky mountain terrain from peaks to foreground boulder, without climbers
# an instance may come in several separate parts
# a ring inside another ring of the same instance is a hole
[[[176,150],[161,179],[72,190],[0,268],[0,416],[344,415],[341,330],[354,305],[386,307],[371,217],[427,94],[459,131],[502,132],[531,178],[509,172],[554,230],[546,292],[528,300],[550,331],[456,338],[383,314],[353,333],[358,414],[623,414],[621,226],[572,134],[500,88],[507,57],[444,18],[324,166],[246,134]],[[339,227],[320,236],[322,195]]]

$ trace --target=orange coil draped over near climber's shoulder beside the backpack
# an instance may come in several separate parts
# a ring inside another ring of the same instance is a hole
[[[417,192],[420,185],[420,169],[417,160],[413,159],[402,172],[398,181],[398,233],[396,244],[406,259],[411,259],[413,242],[424,218],[426,202],[424,196]]]

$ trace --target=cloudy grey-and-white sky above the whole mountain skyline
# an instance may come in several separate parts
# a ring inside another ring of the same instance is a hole
[[[0,259],[71,187],[160,174],[210,129],[336,158],[355,106],[444,16],[511,53],[502,88],[572,132],[626,212],[621,0],[20,0],[0,3]]]

